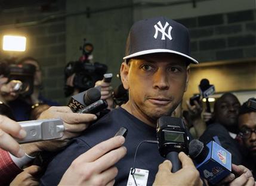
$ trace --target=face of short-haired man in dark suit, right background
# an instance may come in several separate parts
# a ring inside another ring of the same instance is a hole
[[[240,103],[234,95],[226,95],[219,100],[215,111],[215,118],[221,125],[236,127]]]

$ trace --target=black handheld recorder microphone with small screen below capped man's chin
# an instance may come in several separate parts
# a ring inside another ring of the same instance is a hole
[[[183,120],[178,117],[162,116],[158,119],[156,134],[158,138],[158,150],[162,157],[172,163],[172,172],[181,169],[178,153],[189,152],[189,137]]]

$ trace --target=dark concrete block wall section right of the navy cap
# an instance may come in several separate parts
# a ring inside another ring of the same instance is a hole
[[[192,56],[201,63],[256,57],[256,11],[177,19],[189,28]]]

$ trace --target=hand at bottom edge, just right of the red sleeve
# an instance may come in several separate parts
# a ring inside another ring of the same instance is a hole
[[[28,168],[24,169],[23,172],[18,174],[16,178],[13,179],[10,186],[32,186],[32,185],[39,185],[39,181],[36,180],[34,177],[41,169],[39,166],[29,166]]]

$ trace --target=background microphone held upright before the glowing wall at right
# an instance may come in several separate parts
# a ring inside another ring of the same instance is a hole
[[[211,106],[208,97],[215,93],[214,85],[209,84],[208,79],[202,79],[199,85],[199,91],[203,98],[206,98],[206,111],[211,113]]]

